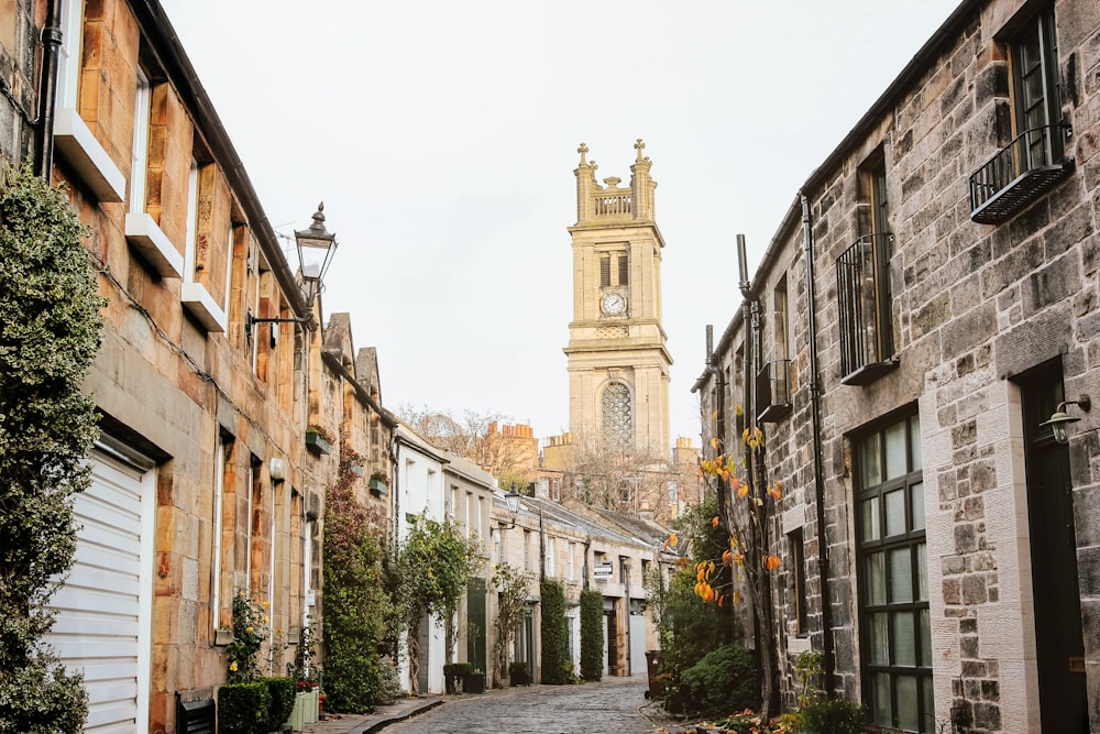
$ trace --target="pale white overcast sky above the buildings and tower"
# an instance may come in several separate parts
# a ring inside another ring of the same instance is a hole
[[[700,445],[705,328],[802,183],[958,0],[162,0],[284,233],[324,200],[326,315],[383,403],[568,429],[578,145],[664,237],[672,438]]]

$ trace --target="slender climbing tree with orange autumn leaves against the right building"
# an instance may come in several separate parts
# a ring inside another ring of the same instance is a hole
[[[718,456],[701,463],[703,474],[717,489],[717,514],[712,524],[715,527],[721,524],[726,529],[729,547],[719,557],[696,563],[694,591],[704,602],[716,602],[721,606],[726,601],[740,601],[740,590],[745,590],[758,625],[760,710],[768,719],[776,713],[777,656],[774,622],[769,604],[770,578],[782,566],[782,559],[771,549],[770,518],[783,487],[778,481],[767,483],[763,480],[763,432],[755,426],[746,428],[741,443],[744,452],[735,457],[722,451],[722,442],[715,438],[712,446],[719,452]],[[740,583],[723,574],[724,569],[734,566],[740,572]]]

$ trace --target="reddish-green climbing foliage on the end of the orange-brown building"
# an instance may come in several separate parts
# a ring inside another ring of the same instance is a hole
[[[340,476],[324,511],[324,692],[334,712],[372,711],[386,700],[380,651],[392,602],[374,517],[355,499],[354,463],[362,458],[341,446]],[[315,675],[312,667],[308,673]]]

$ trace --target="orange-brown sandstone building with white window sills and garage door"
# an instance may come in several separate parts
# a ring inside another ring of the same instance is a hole
[[[0,157],[68,186],[109,302],[85,385],[102,435],[48,642],[84,671],[89,728],[212,725],[238,594],[288,643],[271,672],[319,621],[336,451],[389,474],[376,359],[358,380],[346,318],[322,332],[310,262],[283,254],[156,0],[0,10]],[[334,251],[321,208],[296,239]],[[388,503],[363,501],[385,527]]]

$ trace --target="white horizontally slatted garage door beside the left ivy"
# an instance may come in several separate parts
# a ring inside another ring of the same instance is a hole
[[[127,458],[92,454],[92,484],[75,503],[76,563],[46,638],[84,673],[85,731],[97,734],[148,730],[154,473]]]

